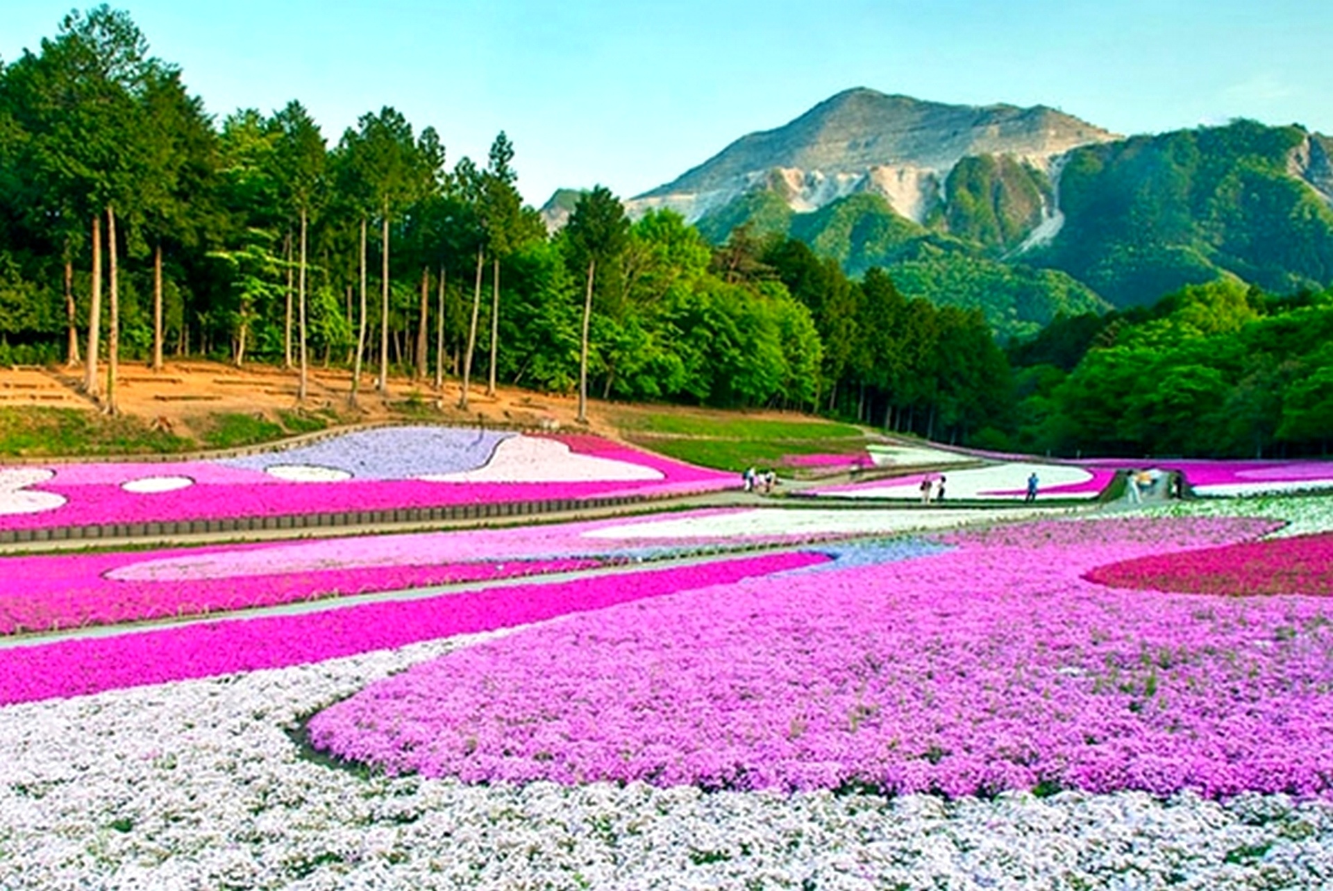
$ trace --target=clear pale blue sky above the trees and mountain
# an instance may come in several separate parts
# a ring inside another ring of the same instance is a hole
[[[0,59],[72,5],[0,0]],[[440,132],[451,166],[504,129],[536,205],[557,186],[645,192],[849,87],[1040,103],[1126,135],[1232,117],[1333,133],[1333,0],[111,5],[219,119],[299,99],[336,143],[393,105]]]

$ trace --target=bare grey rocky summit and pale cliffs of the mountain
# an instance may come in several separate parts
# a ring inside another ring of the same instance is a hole
[[[965,157],[1008,156],[1045,170],[1074,147],[1117,139],[1041,105],[945,105],[858,88],[785,127],[738,139],[673,182],[627,201],[627,208],[670,208],[693,221],[756,188],[776,190],[798,213],[870,192],[921,222]]]

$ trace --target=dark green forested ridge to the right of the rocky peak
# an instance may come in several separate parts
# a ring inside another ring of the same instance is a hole
[[[1326,141],[1298,127],[1236,121],[1070,152],[1066,221],[1028,257],[1117,306],[1238,277],[1273,292],[1333,282]],[[1312,157],[1313,154],[1313,157]]]

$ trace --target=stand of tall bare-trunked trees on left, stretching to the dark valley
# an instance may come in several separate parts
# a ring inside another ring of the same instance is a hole
[[[81,364],[109,412],[120,362],[187,354],[280,364],[303,394],[311,364],[564,393],[587,369],[592,396],[892,413],[954,438],[1004,409],[981,316],[886,277],[713,246],[669,212],[631,225],[605,189],[567,196],[552,237],[504,133],[449,165],[447,133],[389,105],[332,139],[297,100],[212,120],[185,84],[107,7],[0,69],[0,364]],[[900,329],[901,357],[880,337]],[[948,360],[964,345],[977,369]]]

